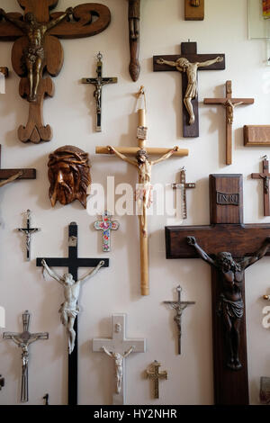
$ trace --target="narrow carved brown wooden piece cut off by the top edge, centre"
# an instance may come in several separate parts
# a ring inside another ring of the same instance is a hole
[[[136,82],[139,78],[139,19],[140,0],[129,1],[129,31],[130,31],[130,76]]]

